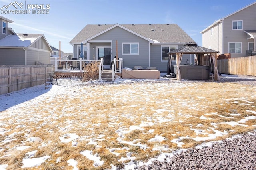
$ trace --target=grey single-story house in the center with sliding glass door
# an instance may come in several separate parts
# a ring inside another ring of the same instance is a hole
[[[156,67],[166,72],[168,52],[194,42],[177,24],[114,24],[86,25],[71,41],[74,58],[81,52],[87,60],[104,57],[104,64],[110,65],[115,56],[123,58],[124,67]],[[184,55],[194,63],[194,55]],[[174,63],[176,61],[173,61]]]

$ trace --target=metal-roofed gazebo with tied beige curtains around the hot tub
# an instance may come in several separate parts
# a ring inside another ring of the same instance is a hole
[[[171,62],[170,58],[172,57],[172,55],[176,54],[176,64],[177,64],[176,77],[177,77],[177,80],[181,81],[180,62],[183,54],[195,54],[198,61],[198,65],[202,64],[202,59],[204,57],[204,54],[209,54],[210,58],[212,58],[213,65],[214,65],[214,80],[219,80],[220,77],[217,69],[217,53],[219,53],[219,51],[215,51],[205,47],[200,47],[197,45],[197,43],[194,43],[194,42],[188,42],[184,44],[183,47],[174,49],[173,51],[168,53],[169,54],[168,67],[170,67],[170,62]]]

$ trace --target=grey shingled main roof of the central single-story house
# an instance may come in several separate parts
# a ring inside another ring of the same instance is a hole
[[[104,33],[104,30],[112,26],[124,27],[131,32],[151,39],[155,43],[185,43],[194,40],[184,32],[177,24],[110,24],[110,25],[86,25],[70,43],[81,43],[96,34]]]

